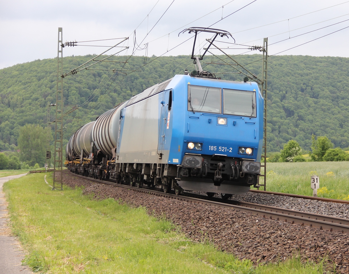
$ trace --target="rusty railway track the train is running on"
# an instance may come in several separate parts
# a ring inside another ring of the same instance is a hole
[[[90,177],[85,177],[72,173],[74,176],[89,179],[98,183],[113,185],[117,187],[124,187],[130,190],[162,196],[170,199],[177,199],[180,201],[201,203],[205,205],[218,206],[223,208],[230,208],[237,211],[248,212],[254,215],[268,218],[272,220],[290,222],[292,224],[306,225],[322,230],[329,230],[334,232],[342,232],[349,234],[349,220],[339,217],[332,217],[321,214],[314,214],[309,212],[302,212],[298,210],[278,208],[272,206],[259,205],[256,203],[241,202],[235,200],[222,200],[219,198],[208,198],[205,195],[193,194],[184,192],[183,195],[175,195],[172,193],[164,193],[154,189],[137,188],[128,185],[121,185],[110,181],[98,180]],[[223,202],[224,201],[224,202]]]

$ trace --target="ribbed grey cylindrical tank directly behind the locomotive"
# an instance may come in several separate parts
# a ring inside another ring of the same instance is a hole
[[[126,104],[127,101],[103,113],[93,126],[92,140],[105,155],[113,155],[112,149],[117,146],[120,112]]]

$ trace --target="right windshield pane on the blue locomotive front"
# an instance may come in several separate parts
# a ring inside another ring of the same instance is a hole
[[[256,117],[256,93],[254,91],[223,89],[224,114]]]

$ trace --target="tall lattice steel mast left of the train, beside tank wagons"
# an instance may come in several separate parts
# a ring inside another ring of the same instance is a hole
[[[63,37],[58,28],[56,120],[54,122],[54,164],[52,190],[63,190]]]

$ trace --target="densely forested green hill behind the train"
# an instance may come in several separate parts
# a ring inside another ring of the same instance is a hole
[[[64,58],[64,71],[79,66],[92,55]],[[154,60],[154,56],[147,62]],[[234,57],[242,64],[260,60],[261,55]],[[116,57],[124,61],[122,57]],[[203,60],[211,62],[208,57]],[[218,61],[221,62],[221,61]],[[101,62],[94,68],[121,68],[120,63]],[[122,63],[121,63],[122,64]],[[133,57],[122,69],[138,69],[144,57]],[[247,66],[261,74],[261,61]],[[184,69],[195,69],[187,56],[159,57],[142,72],[124,79],[106,70],[84,70],[64,79],[65,111],[84,104],[65,121],[65,139],[83,124],[95,120],[114,105]],[[208,65],[207,71],[229,71],[224,65]],[[230,71],[233,72],[233,71]],[[55,103],[57,63],[55,59],[35,60],[0,70],[0,150],[16,144],[18,130],[25,124],[46,126],[47,105]],[[128,73],[128,72],[126,72]],[[217,75],[218,76],[218,75]],[[221,74],[222,79],[242,81],[241,74]],[[290,139],[310,149],[311,134],[326,135],[335,146],[349,146],[349,58],[273,56],[268,66],[268,151],[278,151]],[[54,119],[51,108],[51,121]]]

